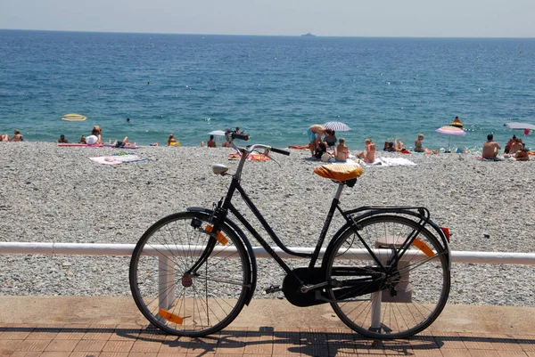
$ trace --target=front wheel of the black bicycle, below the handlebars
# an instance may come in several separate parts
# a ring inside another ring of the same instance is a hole
[[[218,240],[210,230],[210,215],[182,212],[154,223],[137,242],[130,261],[132,296],[147,320],[169,334],[217,332],[245,304],[251,287],[247,250],[226,224]]]

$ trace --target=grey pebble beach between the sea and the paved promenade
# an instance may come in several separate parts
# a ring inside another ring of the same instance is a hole
[[[118,151],[0,142],[1,241],[135,244],[165,215],[211,207],[230,178],[212,174],[210,165],[231,172],[237,165],[227,148],[141,147],[133,151],[148,161],[117,166],[89,159]],[[291,152],[248,162],[243,187],[288,247],[313,247],[336,185],[313,173],[321,162],[309,150]],[[476,156],[410,154],[402,157],[416,166],[365,167],[357,185],[343,191],[342,207],[428,207],[449,227],[452,250],[533,252],[535,162]],[[239,199],[235,204],[247,212]],[[337,228],[334,221],[329,233]],[[127,256],[1,255],[0,294],[129,296],[128,264]],[[535,266],[454,264],[449,304],[535,306],[534,274]],[[283,278],[276,264],[259,260],[256,296]]]

